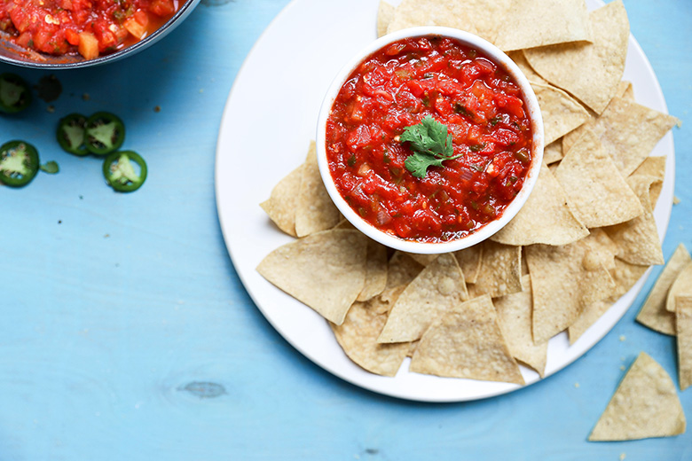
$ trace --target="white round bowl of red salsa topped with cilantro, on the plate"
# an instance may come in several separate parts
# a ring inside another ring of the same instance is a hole
[[[500,230],[531,194],[544,147],[539,103],[519,67],[449,27],[400,30],[360,51],[326,92],[316,140],[342,215],[418,254]]]

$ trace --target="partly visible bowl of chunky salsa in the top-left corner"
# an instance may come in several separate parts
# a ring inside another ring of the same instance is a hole
[[[51,69],[96,66],[168,35],[200,0],[0,2],[0,62]],[[32,20],[40,17],[42,20]]]

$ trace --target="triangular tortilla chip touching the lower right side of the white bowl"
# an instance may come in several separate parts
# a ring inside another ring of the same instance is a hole
[[[491,240],[506,245],[565,245],[589,234],[567,204],[562,187],[545,163],[539,180],[519,213]]]

